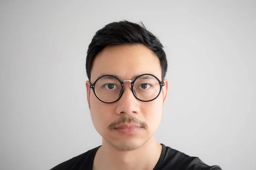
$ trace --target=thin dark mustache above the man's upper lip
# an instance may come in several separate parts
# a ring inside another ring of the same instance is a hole
[[[144,121],[140,121],[139,119],[137,119],[135,116],[121,116],[119,117],[119,119],[117,119],[115,122],[112,122],[110,125],[108,125],[108,127],[106,127],[106,129],[108,130],[112,130],[114,129],[116,126],[122,124],[122,123],[135,123],[137,125],[140,125],[140,127],[144,128],[145,130],[148,129],[148,125],[146,122]]]

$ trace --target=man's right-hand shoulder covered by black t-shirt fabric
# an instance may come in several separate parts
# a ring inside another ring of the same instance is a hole
[[[157,170],[221,170],[219,166],[209,166],[198,157],[188,156],[178,150],[166,147],[162,144],[163,150],[157,163]]]

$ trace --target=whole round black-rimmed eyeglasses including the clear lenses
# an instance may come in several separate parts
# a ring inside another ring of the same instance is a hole
[[[153,74],[142,74],[133,81],[121,81],[113,75],[103,75],[91,84],[95,96],[104,103],[113,103],[122,97],[124,82],[131,82],[134,97],[142,102],[150,102],[156,99],[165,85]]]

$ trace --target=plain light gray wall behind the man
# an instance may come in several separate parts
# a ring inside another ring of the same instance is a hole
[[[112,21],[165,46],[169,96],[157,141],[224,170],[255,170],[256,1],[0,3],[0,169],[47,170],[101,144],[85,57]]]

